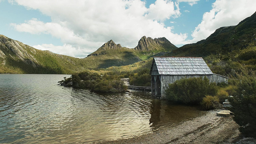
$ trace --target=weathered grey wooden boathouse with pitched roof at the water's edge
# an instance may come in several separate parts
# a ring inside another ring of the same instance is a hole
[[[228,77],[212,73],[201,57],[154,57],[150,69],[151,93],[161,95],[169,84],[182,78],[207,77],[210,82],[228,83]]]

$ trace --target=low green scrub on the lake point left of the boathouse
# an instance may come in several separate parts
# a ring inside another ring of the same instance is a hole
[[[138,72],[113,72],[88,70],[73,74],[70,78],[59,83],[75,88],[90,89],[95,92],[125,92],[127,86],[121,78],[130,78],[130,84],[136,86],[151,85],[149,69],[144,68]]]

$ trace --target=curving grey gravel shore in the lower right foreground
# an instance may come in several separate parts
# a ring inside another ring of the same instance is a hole
[[[255,139],[243,138],[239,126],[231,117],[216,116],[219,110],[141,136],[128,139],[94,142],[94,144],[179,144],[179,143],[256,143]]]

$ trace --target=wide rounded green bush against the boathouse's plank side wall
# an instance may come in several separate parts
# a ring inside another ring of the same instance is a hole
[[[210,83],[208,78],[194,77],[169,84],[165,94],[169,100],[174,102],[199,104],[205,95],[215,95],[217,90],[216,83]]]

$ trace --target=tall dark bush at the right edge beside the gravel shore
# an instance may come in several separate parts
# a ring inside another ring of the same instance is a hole
[[[230,109],[234,120],[240,125],[240,131],[245,136],[256,137],[256,74],[245,67],[241,73],[236,73],[238,82],[236,95],[230,98]]]

